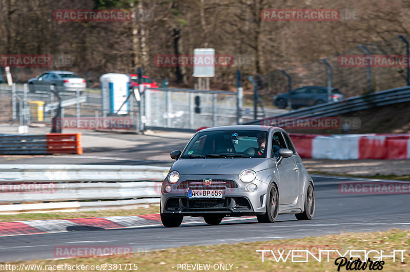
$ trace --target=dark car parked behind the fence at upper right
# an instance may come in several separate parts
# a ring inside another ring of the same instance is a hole
[[[338,89],[332,89],[332,101],[343,99]],[[327,87],[305,86],[291,92],[292,108],[309,107],[327,102]],[[288,107],[288,93],[273,98],[273,104],[279,109]]]

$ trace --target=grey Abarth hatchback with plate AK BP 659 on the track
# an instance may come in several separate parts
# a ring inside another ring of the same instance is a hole
[[[217,225],[228,216],[256,215],[275,222],[278,214],[309,220],[315,213],[311,176],[289,135],[281,128],[231,125],[197,132],[161,186],[160,216],[178,227],[184,216]]]

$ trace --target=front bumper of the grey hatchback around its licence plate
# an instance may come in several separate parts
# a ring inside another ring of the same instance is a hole
[[[210,186],[204,186],[200,181],[211,179]],[[222,184],[223,181],[229,181]],[[258,186],[255,192],[249,192],[245,187],[249,183],[239,180],[238,175],[186,175],[171,184],[164,181],[161,187],[161,213],[180,214],[202,217],[204,215],[244,216],[265,213],[265,195],[268,184],[259,180],[253,182]],[[171,192],[165,193],[166,185],[171,185]],[[223,198],[188,197],[189,190],[223,190]]]

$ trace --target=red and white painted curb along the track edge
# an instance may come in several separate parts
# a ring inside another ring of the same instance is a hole
[[[227,217],[222,220],[234,221],[255,218],[254,216]],[[185,217],[182,224],[204,223],[202,218]],[[81,231],[88,229],[114,229],[162,226],[159,214],[138,215],[138,216],[110,216],[91,218],[70,218],[53,220],[31,220],[20,222],[0,223],[1,236],[15,236],[28,234],[62,233],[70,231]]]

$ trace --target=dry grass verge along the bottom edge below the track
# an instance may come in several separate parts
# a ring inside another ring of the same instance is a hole
[[[204,234],[206,237],[209,234]],[[187,237],[189,238],[189,237]],[[187,241],[188,242],[188,241]],[[82,245],[84,246],[84,245]],[[309,237],[291,240],[272,240],[252,243],[221,244],[209,246],[185,246],[167,250],[157,250],[155,252],[143,252],[144,248],[138,248],[139,253],[132,255],[117,255],[105,257],[88,257],[74,258],[64,260],[36,260],[24,262],[26,264],[38,265],[101,265],[101,264],[137,264],[138,270],[141,271],[178,271],[178,264],[210,264],[211,271],[214,264],[232,264],[233,271],[337,271],[334,264],[338,257],[336,253],[331,253],[329,262],[323,257],[322,262],[309,258],[308,262],[276,262],[272,254],[265,254],[264,262],[261,260],[261,253],[256,252],[259,249],[285,250],[309,250],[315,256],[318,256],[318,250],[339,250],[340,254],[345,254],[347,250],[383,250],[383,254],[392,253],[392,250],[405,249],[403,254],[404,261],[392,258],[384,259],[383,271],[408,271],[410,260],[410,231],[401,231],[393,229],[387,232],[377,233],[346,233],[340,235],[327,235],[322,237]],[[354,254],[354,253],[353,253]],[[375,255],[370,257],[375,260]],[[398,256],[398,255],[396,255]],[[356,258],[354,258],[356,259]],[[362,259],[362,258],[361,258]],[[300,258],[298,260],[301,260]],[[12,263],[19,266],[20,262]],[[129,267],[129,266],[128,266]],[[173,268],[174,267],[174,268]],[[229,267],[229,266],[228,266]],[[95,269],[96,270],[96,269]],[[113,269],[110,269],[113,270]],[[119,270],[119,269],[117,269]],[[122,269],[124,270],[124,268]],[[179,269],[181,270],[181,268]],[[368,270],[368,267],[367,269]],[[340,271],[346,271],[342,267]]]

